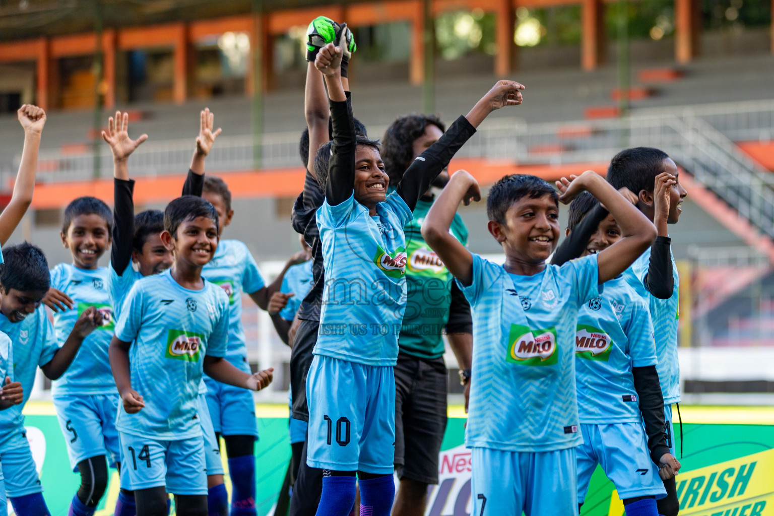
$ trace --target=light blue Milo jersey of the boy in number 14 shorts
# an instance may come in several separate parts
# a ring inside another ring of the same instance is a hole
[[[146,406],[118,409],[116,427],[135,436],[177,440],[201,435],[197,396],[204,355],[224,357],[228,296],[214,283],[181,287],[169,270],[135,282],[115,335],[129,348],[132,388]]]

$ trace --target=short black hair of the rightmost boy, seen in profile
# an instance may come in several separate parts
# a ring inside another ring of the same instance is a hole
[[[664,172],[664,160],[670,156],[652,147],[624,149],[611,159],[608,167],[608,183],[618,190],[626,187],[636,196],[642,190],[652,192],[656,176]]]

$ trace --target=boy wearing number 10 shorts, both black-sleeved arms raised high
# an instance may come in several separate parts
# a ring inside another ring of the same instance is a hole
[[[350,100],[341,84],[341,60],[349,50],[343,40],[337,43],[320,49],[315,60],[327,86],[333,142],[320,147],[314,163],[325,190],[317,226],[326,285],[307,378],[307,464],[327,470],[318,515],[350,513],[357,474],[361,514],[386,516],[395,493],[392,367],[406,307],[403,227],[454,152],[491,111],[520,104],[523,87],[499,81],[413,162],[388,195],[389,176],[378,143],[355,135]],[[359,299],[349,299],[358,290]],[[336,386],[335,395],[331,386]]]

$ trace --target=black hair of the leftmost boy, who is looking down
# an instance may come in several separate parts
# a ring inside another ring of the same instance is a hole
[[[43,251],[29,242],[9,245],[2,250],[5,267],[0,274],[0,284],[7,294],[10,289],[20,292],[48,292],[51,273]]]

